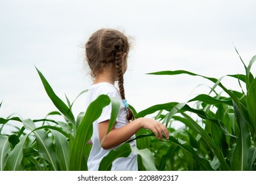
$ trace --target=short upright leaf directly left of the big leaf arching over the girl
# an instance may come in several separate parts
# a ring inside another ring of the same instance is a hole
[[[55,139],[57,159],[61,166],[61,170],[67,171],[68,170],[68,159],[69,159],[68,141],[66,140],[66,137],[59,131],[51,129],[51,133],[53,133],[53,137]]]

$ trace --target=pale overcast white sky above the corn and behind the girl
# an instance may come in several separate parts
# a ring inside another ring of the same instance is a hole
[[[100,28],[133,37],[125,90],[138,111],[153,104],[186,102],[213,83],[192,76],[148,76],[189,70],[220,78],[243,74],[234,45],[248,64],[256,55],[256,1],[0,1],[0,117],[43,118],[56,110],[36,66],[64,100],[91,84],[84,43]],[[255,66],[252,68],[255,75]],[[224,78],[228,89],[236,80]],[[199,84],[205,84],[200,85]],[[196,88],[195,88],[196,87]],[[84,99],[74,114],[84,111]]]

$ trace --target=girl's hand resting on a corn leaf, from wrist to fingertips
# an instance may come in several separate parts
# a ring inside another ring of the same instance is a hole
[[[141,118],[141,127],[153,131],[157,139],[163,139],[163,134],[165,135],[166,139],[169,139],[168,129],[156,120],[150,118]]]

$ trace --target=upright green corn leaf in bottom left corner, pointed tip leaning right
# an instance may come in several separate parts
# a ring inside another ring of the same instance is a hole
[[[11,151],[5,164],[5,171],[22,171],[23,165],[23,146],[28,137],[28,134],[20,138],[20,142]]]

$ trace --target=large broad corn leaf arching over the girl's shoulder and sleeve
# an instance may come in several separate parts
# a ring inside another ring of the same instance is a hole
[[[116,114],[119,112],[119,108],[117,108],[117,106],[120,105],[116,104],[115,99],[109,98],[107,95],[100,95],[88,106],[86,114],[78,126],[74,143],[70,148],[69,170],[82,170],[82,165],[84,165],[84,163],[82,163],[82,160],[84,159],[84,145],[88,143],[91,138],[93,132],[92,124],[95,120],[97,120],[97,118],[99,118],[99,116],[101,116],[103,108],[109,103],[112,103],[112,107],[115,105],[115,108],[112,108],[111,120],[109,122],[115,123],[115,117],[117,116]],[[115,110],[118,111],[114,112]],[[111,126],[113,125],[110,123],[109,127]]]

